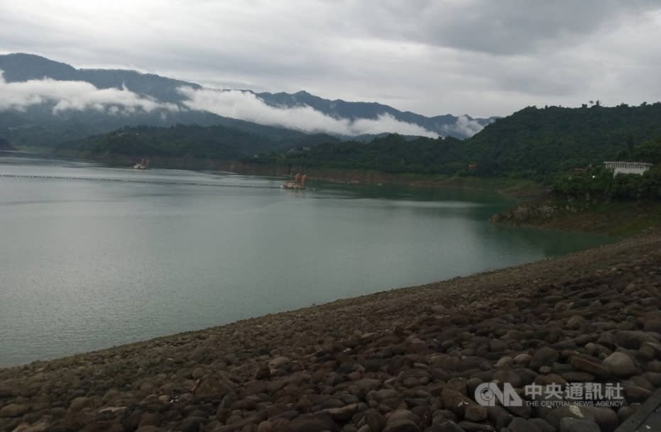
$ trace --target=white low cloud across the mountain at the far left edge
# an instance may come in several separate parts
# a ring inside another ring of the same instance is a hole
[[[25,111],[29,106],[44,103],[55,104],[53,114],[89,109],[110,114],[151,112],[155,109],[179,110],[175,104],[148,99],[126,88],[97,89],[89,82],[57,81],[50,78],[6,82],[0,71],[0,111]]]

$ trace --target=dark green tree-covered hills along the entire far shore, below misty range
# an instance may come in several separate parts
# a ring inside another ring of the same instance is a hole
[[[657,196],[657,167],[636,178],[613,179],[597,168],[589,169],[591,174],[584,177],[556,177],[575,168],[601,167],[604,160],[661,165],[661,103],[636,107],[591,104],[575,109],[528,107],[486,126],[469,140],[386,135],[369,143],[342,142],[329,135],[275,137],[229,126],[177,125],[122,128],[64,147],[92,155],[241,159],[268,165],[390,173],[508,176],[553,182],[557,193],[576,196]]]

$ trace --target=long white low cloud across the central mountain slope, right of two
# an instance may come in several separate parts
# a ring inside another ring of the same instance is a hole
[[[363,135],[366,133],[401,133],[436,138],[437,133],[413,123],[398,121],[383,113],[378,118],[334,118],[311,106],[271,106],[251,92],[240,90],[192,89],[181,87],[179,91],[187,100],[182,103],[190,109],[209,111],[219,116],[239,118],[270,126],[282,126],[307,133],[332,133],[336,135]]]

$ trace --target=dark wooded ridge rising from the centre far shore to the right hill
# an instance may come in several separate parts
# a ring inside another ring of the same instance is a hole
[[[371,143],[334,143],[307,150],[261,155],[263,163],[362,168],[384,172],[508,175],[549,179],[574,167],[604,160],[653,159],[661,137],[661,103],[641,106],[528,107],[492,123],[473,138],[399,135]],[[638,149],[634,152],[634,149]],[[647,152],[647,153],[645,153]],[[643,162],[645,161],[643,160]],[[655,162],[655,161],[652,161]]]

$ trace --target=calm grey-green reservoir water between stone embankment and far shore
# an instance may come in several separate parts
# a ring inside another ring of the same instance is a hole
[[[0,154],[0,365],[609,241],[493,226],[490,194],[280,183]]]

